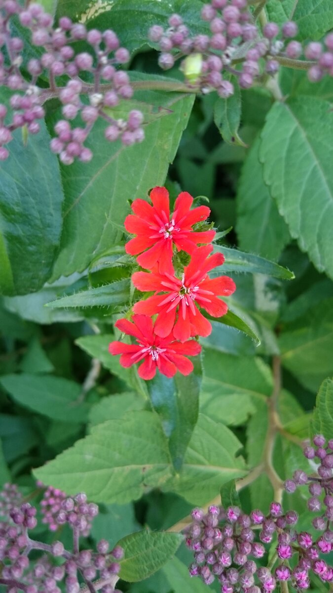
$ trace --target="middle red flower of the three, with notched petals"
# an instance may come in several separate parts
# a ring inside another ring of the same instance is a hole
[[[155,272],[133,274],[133,283],[140,291],[156,291],[152,297],[137,302],[133,310],[145,315],[158,314],[155,322],[158,336],[167,336],[172,327],[175,338],[181,342],[190,336],[209,336],[212,326],[195,303],[213,317],[222,317],[228,311],[226,303],[217,295],[226,297],[232,294],[236,289],[235,282],[228,276],[209,278],[207,272],[224,262],[222,253],[209,257],[212,251],[211,245],[197,247],[181,279],[176,278],[174,272],[172,275]],[[157,294],[162,291],[164,294]],[[177,311],[178,319],[174,326]]]

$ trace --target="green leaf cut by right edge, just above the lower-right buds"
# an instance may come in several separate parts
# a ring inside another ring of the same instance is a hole
[[[311,433],[324,435],[331,439],[333,435],[333,379],[325,379],[319,387],[316,407],[313,410]]]

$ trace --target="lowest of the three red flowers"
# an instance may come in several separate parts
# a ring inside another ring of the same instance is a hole
[[[143,361],[138,369],[142,379],[155,377],[156,368],[167,377],[173,377],[177,370],[182,375],[189,375],[193,371],[193,364],[184,355],[195,356],[200,352],[201,346],[195,340],[181,344],[175,342],[172,333],[164,338],[156,336],[153,321],[146,315],[133,315],[133,323],[120,319],[115,326],[129,336],[134,336],[137,344],[111,342],[109,352],[121,354],[120,364],[126,367]]]

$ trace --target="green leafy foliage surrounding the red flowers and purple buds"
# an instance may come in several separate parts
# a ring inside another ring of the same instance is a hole
[[[149,26],[172,12],[193,31],[201,26],[199,0],[44,4],[57,17],[116,31],[131,51],[131,80],[152,87],[182,74],[176,67],[161,74]],[[332,28],[331,2],[292,5],[268,0],[266,9],[277,23],[293,18],[299,40]],[[261,463],[273,359],[282,381],[278,477],[307,467],[300,444],[309,434],[332,438],[333,82],[312,84],[304,72],[281,68],[278,85],[282,101],[262,87],[228,100],[136,91],[131,107],[145,114],[145,141],[110,145],[97,123],[88,141],[94,158],[68,167],[45,149],[59,109],[52,100],[41,133],[27,145],[15,133],[0,164],[0,484],[15,482],[26,495],[36,479],[69,494],[83,490],[101,509],[92,538],[113,546],[140,534],[135,559],[120,573],[131,593],[203,589],[187,580],[185,547],[173,556],[180,536],[152,538]],[[6,93],[0,88],[1,101]],[[144,382],[108,343],[119,339],[114,321],[135,299],[124,218],[131,200],[164,184],[171,200],[181,190],[209,200],[223,272],[237,289],[226,299],[225,323],[212,321],[201,340],[190,378]],[[267,512],[274,483],[266,469],[241,491],[245,511]],[[302,494],[292,508],[306,520]],[[313,587],[326,590],[319,579]]]

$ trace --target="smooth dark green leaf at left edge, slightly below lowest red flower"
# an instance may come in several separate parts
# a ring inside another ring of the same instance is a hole
[[[63,422],[85,422],[90,406],[78,403],[81,386],[62,377],[3,375],[0,385],[21,406]]]

